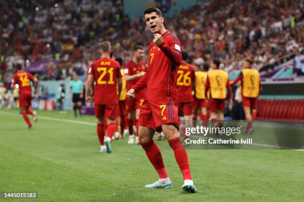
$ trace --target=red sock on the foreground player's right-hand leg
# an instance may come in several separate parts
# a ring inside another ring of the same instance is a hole
[[[187,152],[179,137],[170,140],[169,145],[174,152],[176,162],[183,174],[184,180],[192,180]]]

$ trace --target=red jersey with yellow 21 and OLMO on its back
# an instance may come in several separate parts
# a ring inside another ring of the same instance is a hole
[[[90,65],[88,74],[93,75],[95,81],[95,103],[118,103],[117,79],[122,77],[120,69],[120,64],[111,58],[101,58]]]

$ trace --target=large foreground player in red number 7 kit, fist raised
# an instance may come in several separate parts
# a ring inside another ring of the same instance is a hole
[[[147,27],[154,35],[149,45],[148,70],[146,74],[128,91],[128,98],[147,87],[139,118],[139,140],[158,173],[159,180],[146,185],[146,188],[171,188],[162,156],[153,142],[155,130],[164,132],[175,159],[184,177],[184,192],[196,193],[193,185],[187,152],[178,135],[177,67],[182,62],[180,42],[177,37],[164,28],[163,17],[158,8],[148,8],[144,12]]]

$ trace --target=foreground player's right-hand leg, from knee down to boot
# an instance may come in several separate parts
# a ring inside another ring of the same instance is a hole
[[[186,193],[196,193],[197,190],[192,181],[187,152],[179,139],[176,126],[174,124],[164,124],[161,126],[161,128],[174,152],[175,160],[179,166],[179,169],[183,174],[183,191]]]

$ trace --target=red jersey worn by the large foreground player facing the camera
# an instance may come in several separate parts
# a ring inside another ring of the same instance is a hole
[[[137,93],[147,87],[147,101],[169,101],[175,104],[177,67],[182,61],[181,45],[177,37],[168,31],[162,37],[163,42],[159,47],[153,42],[149,45],[147,72],[132,88]]]

